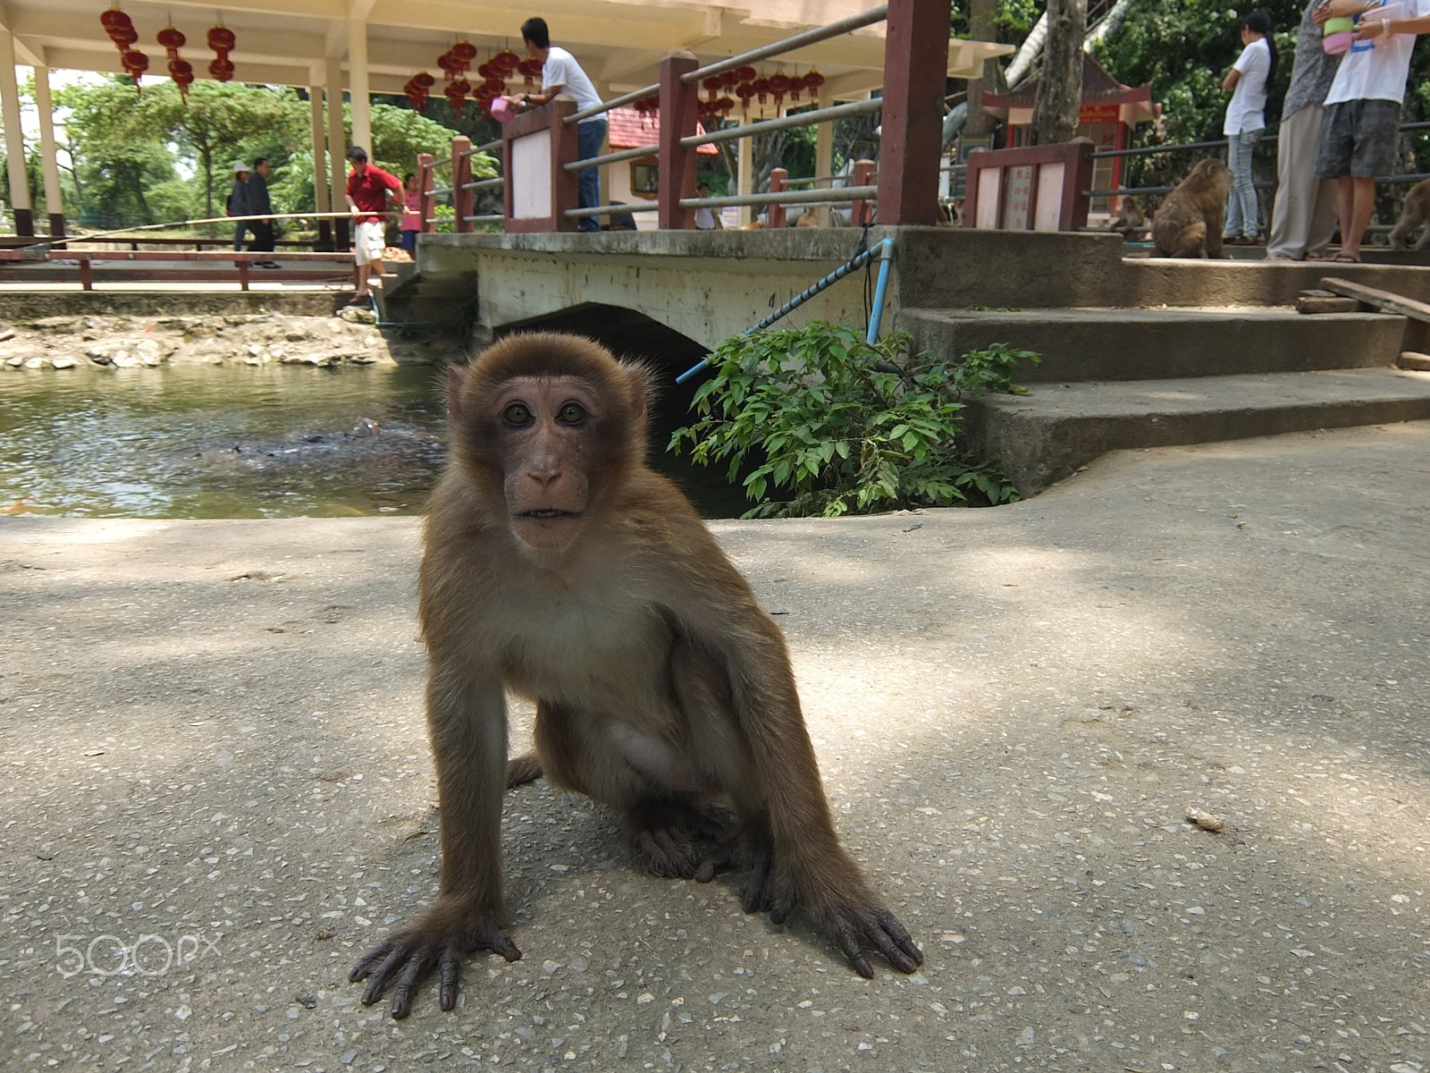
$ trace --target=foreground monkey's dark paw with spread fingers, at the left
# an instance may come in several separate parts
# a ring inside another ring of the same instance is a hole
[[[462,957],[475,950],[490,950],[508,961],[516,961],[522,956],[489,913],[445,906],[439,901],[412,927],[389,936],[382,944],[369,950],[353,966],[347,980],[368,981],[362,993],[363,1006],[372,1006],[382,997],[388,984],[396,981],[398,986],[392,993],[392,1016],[400,1019],[412,1011],[412,1000],[423,977],[436,969],[440,974],[442,1009],[450,1010],[456,1007]]]

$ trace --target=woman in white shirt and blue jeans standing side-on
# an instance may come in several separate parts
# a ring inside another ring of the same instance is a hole
[[[1251,180],[1251,155],[1266,133],[1266,94],[1276,74],[1271,16],[1261,9],[1248,14],[1241,24],[1241,44],[1246,47],[1221,83],[1221,89],[1231,90],[1227,120],[1221,124],[1221,133],[1231,142],[1227,156],[1231,190],[1221,242],[1257,246],[1261,243],[1261,209]]]

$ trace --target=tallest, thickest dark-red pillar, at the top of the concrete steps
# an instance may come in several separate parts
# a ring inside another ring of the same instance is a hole
[[[940,220],[951,0],[889,0],[888,7],[878,217],[932,226]]]

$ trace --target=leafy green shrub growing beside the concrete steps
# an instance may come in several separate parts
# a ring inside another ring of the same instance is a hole
[[[691,402],[695,422],[669,449],[726,462],[732,482],[754,465],[745,518],[1012,502],[997,464],[960,446],[961,398],[1017,391],[1012,366],[1038,356],[1000,345],[950,365],[909,355],[911,342],[895,332],[871,346],[819,320],[726,339]]]

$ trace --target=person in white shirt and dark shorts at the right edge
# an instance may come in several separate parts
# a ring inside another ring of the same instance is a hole
[[[1396,167],[1396,134],[1406,99],[1410,53],[1416,34],[1430,33],[1430,0],[1403,0],[1400,16],[1377,17],[1381,0],[1327,0],[1316,11],[1316,24],[1328,19],[1358,17],[1356,41],[1341,59],[1326,94],[1316,175],[1337,183],[1340,253],[1327,260],[1360,260],[1360,240],[1376,210],[1376,176]]]

